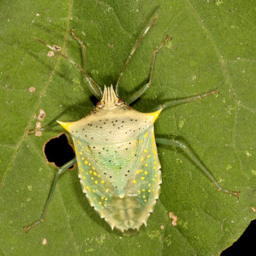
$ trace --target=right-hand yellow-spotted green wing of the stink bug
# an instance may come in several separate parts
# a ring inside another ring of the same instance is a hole
[[[152,127],[140,138],[137,163],[126,187],[127,197],[129,196],[136,205],[135,209],[130,209],[131,216],[134,215],[132,220],[136,221],[139,227],[142,223],[146,225],[159,197],[162,183],[160,168]]]

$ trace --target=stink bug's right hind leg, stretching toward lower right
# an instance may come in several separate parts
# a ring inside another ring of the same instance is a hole
[[[211,175],[211,173],[204,167],[202,163],[200,163],[200,161],[193,155],[193,153],[189,150],[189,148],[186,145],[184,145],[182,142],[156,138],[156,143],[182,148],[182,150],[184,150],[184,152],[186,152],[189,155],[189,157],[193,159],[196,165],[200,167],[200,169],[205,173],[205,175],[212,181],[212,183],[214,184],[215,188],[218,191],[239,197],[239,194],[240,194],[239,191],[230,191],[225,188],[222,188],[220,184],[218,184],[217,180]]]

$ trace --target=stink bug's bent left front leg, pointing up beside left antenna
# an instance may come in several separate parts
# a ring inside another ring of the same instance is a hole
[[[75,34],[75,29],[71,29],[71,35],[77,40],[77,42],[80,44],[81,46],[81,51],[82,51],[82,57],[83,57],[83,75],[84,75],[84,80],[86,82],[88,82],[88,79],[86,77],[86,46],[83,43],[83,41],[81,40],[80,37],[78,37]],[[93,94],[97,97],[97,95],[99,95],[100,97],[102,97],[102,90],[100,89],[100,86],[92,79],[91,83],[88,83],[90,86],[90,89],[92,90]]]

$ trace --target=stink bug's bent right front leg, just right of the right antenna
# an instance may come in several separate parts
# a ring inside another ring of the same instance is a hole
[[[144,84],[143,87],[140,88],[140,90],[138,90],[138,92],[134,93],[131,97],[129,97],[129,99],[126,100],[126,103],[128,105],[130,105],[136,99],[140,98],[141,95],[143,95],[143,93],[145,93],[148,90],[148,88],[150,87],[150,85],[152,84],[152,79],[153,79],[153,74],[154,74],[154,65],[155,65],[155,62],[156,62],[157,53],[163,47],[163,45],[166,44],[166,42],[168,42],[171,39],[172,38],[170,38],[169,36],[166,36],[164,42],[159,44],[156,47],[156,49],[154,49],[153,54],[152,54],[152,61],[151,61],[151,68],[150,68],[150,75],[149,75],[149,78],[148,78],[148,83]]]

